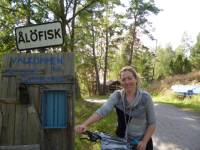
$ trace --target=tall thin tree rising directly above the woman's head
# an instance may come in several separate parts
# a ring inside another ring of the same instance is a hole
[[[129,26],[129,38],[128,38],[128,65],[132,64],[133,53],[136,51],[139,39],[139,34],[143,33],[150,35],[150,30],[148,25],[150,22],[148,16],[150,14],[158,14],[160,9],[158,9],[152,0],[131,0],[130,6],[127,9],[127,18],[131,21]]]

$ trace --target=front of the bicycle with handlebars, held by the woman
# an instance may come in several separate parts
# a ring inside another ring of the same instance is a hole
[[[129,143],[122,138],[114,137],[110,134],[104,132],[91,132],[86,131],[85,134],[88,138],[87,139],[91,142],[98,142],[101,143],[101,150],[136,150],[138,141],[134,141]]]

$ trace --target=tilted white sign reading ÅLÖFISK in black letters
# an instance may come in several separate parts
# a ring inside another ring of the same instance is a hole
[[[64,42],[61,22],[18,27],[15,34],[19,50],[57,46]]]

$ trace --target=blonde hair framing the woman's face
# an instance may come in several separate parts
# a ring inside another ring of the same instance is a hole
[[[133,76],[135,77],[136,81],[137,81],[137,88],[140,87],[141,81],[140,81],[140,77],[138,75],[138,73],[136,72],[136,70],[132,67],[132,66],[125,66],[120,70],[119,76],[121,79],[121,73],[125,72],[125,71],[129,71],[133,74]]]

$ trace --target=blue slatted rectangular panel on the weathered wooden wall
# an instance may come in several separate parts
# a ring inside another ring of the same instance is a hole
[[[43,128],[67,127],[67,93],[65,90],[44,90],[41,97]]]

